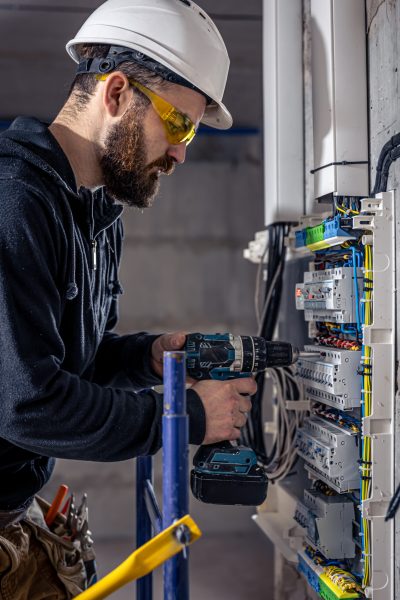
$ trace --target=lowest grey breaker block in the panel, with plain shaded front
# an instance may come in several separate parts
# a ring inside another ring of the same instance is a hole
[[[304,502],[297,503],[294,518],[307,530],[307,542],[325,558],[354,558],[354,504],[351,500],[304,490]]]

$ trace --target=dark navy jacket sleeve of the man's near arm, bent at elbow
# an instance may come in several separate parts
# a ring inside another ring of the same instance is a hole
[[[159,394],[104,387],[62,368],[60,223],[51,204],[11,181],[1,182],[0,197],[0,436],[56,458],[116,461],[156,452]],[[197,419],[191,441],[199,443],[204,410],[195,392],[190,397]]]

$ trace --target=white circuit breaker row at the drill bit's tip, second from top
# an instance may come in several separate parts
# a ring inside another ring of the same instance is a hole
[[[305,346],[314,357],[297,361],[297,377],[304,384],[306,400],[322,402],[339,410],[360,406],[362,377],[358,375],[361,351]]]

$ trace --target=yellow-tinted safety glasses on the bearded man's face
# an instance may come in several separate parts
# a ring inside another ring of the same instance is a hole
[[[107,75],[96,75],[96,79],[104,81],[107,79]],[[130,85],[137,88],[150,100],[154,110],[163,122],[169,143],[172,145],[182,144],[182,142],[185,142],[186,145],[190,144],[196,135],[196,127],[189,117],[179,112],[175,106],[164,100],[164,98],[160,98],[158,94],[155,94],[141,83],[133,79],[128,79],[128,81]]]

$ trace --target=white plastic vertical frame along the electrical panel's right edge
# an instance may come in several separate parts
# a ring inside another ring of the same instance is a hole
[[[395,398],[395,236],[394,192],[361,201],[354,225],[373,238],[373,317],[364,327],[364,344],[372,349],[372,411],[363,419],[363,433],[371,438],[372,491],[362,502],[371,522],[372,569],[367,598],[394,598],[394,522],[384,517],[394,493]],[[369,224],[367,223],[369,221]],[[365,236],[364,236],[365,237]],[[368,242],[368,240],[365,240]]]

